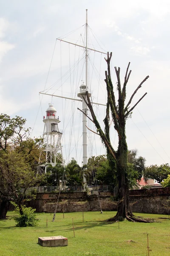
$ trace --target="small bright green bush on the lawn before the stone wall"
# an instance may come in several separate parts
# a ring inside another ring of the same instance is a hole
[[[19,207],[17,207],[17,205],[14,203],[12,203],[12,204],[15,207],[15,212],[20,214]],[[36,218],[36,215],[34,213],[36,209],[32,209],[31,207],[26,207],[25,205],[22,205],[21,207],[22,207],[23,215],[14,217],[14,220],[17,222],[16,226],[17,227],[37,226],[37,222],[39,220]]]

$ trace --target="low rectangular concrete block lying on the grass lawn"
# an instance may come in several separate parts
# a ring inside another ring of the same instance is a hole
[[[38,243],[46,247],[67,246],[68,239],[64,236],[45,236],[39,237]]]

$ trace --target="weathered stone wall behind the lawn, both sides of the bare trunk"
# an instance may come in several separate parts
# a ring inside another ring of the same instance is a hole
[[[102,210],[116,210],[116,205],[110,200],[113,192],[99,192]],[[163,205],[170,196],[170,188],[136,189],[130,191],[130,204],[133,212],[166,214]],[[37,212],[54,212],[58,193],[38,193],[37,198],[28,202]],[[65,204],[64,204],[65,202]],[[64,206],[63,206],[64,204]],[[57,212],[99,211],[97,195],[87,195],[86,192],[60,193]]]

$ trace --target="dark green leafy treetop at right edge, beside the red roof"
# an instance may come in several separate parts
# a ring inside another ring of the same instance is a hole
[[[170,166],[168,163],[158,165],[147,166],[144,170],[144,179],[155,179],[159,182],[163,181],[170,174]]]

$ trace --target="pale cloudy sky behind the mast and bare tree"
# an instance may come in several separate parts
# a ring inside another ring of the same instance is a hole
[[[95,49],[113,52],[114,85],[114,66],[121,68],[123,83],[130,61],[132,73],[127,84],[127,101],[139,83],[150,76],[132,102],[135,104],[147,92],[132,118],[127,120],[128,148],[136,148],[138,156],[145,157],[148,166],[170,163],[169,0],[0,0],[0,113],[23,116],[27,127],[33,129],[31,136],[39,137],[43,132],[42,117],[48,103],[52,102],[63,129],[64,158],[68,162],[74,157],[81,163],[82,117],[77,110],[81,105],[51,96],[42,97],[39,92],[77,98],[77,90],[85,81],[84,71],[80,72],[84,59],[76,68],[71,67],[84,52],[70,44],[56,42],[56,38],[82,44],[86,9],[89,32],[92,31],[89,44]],[[105,104],[105,56],[93,52],[89,56],[92,99]],[[64,76],[65,73],[71,73],[71,78]],[[102,124],[105,108],[94,108]],[[116,148],[113,124],[111,134]],[[94,154],[105,154],[98,136],[93,136]]]

